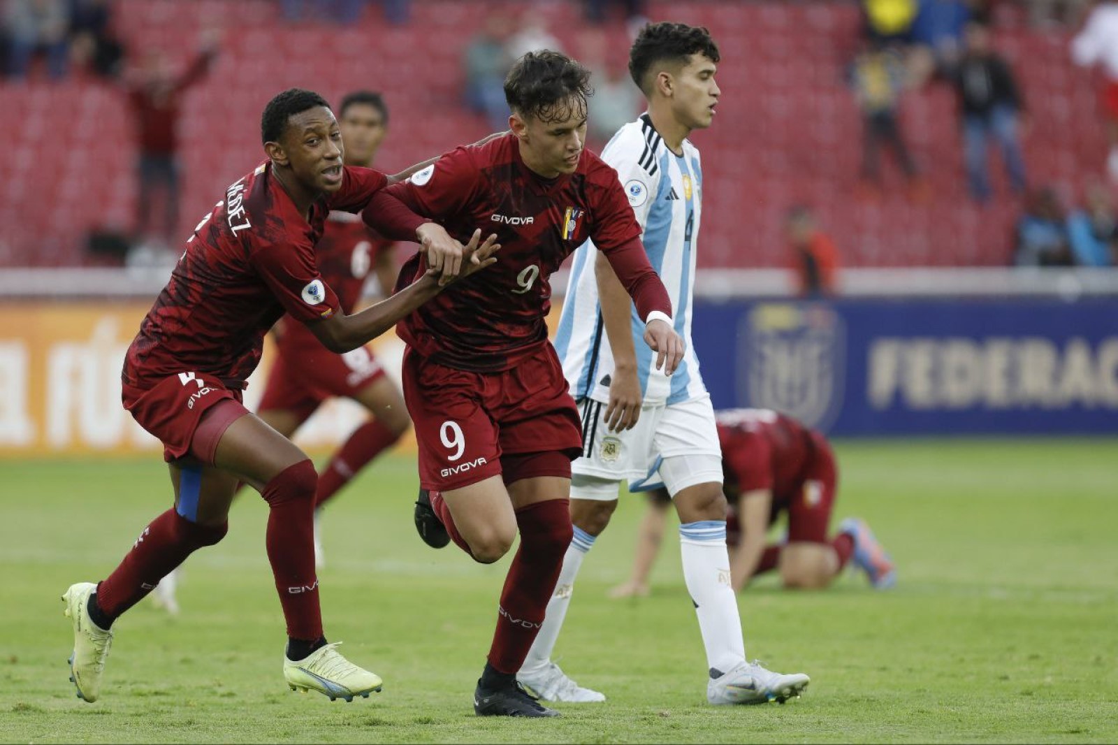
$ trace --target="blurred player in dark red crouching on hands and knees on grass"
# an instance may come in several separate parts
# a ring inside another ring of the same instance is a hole
[[[752,577],[778,569],[785,587],[826,587],[853,560],[878,590],[892,587],[897,568],[865,521],[847,518],[827,538],[839,471],[822,433],[766,409],[718,413],[723,489],[730,501],[727,540],[733,547],[730,573],[740,591]],[[629,484],[646,491],[648,509],[641,521],[633,575],[610,595],[648,594],[648,572],[667,522],[670,500],[653,469]],[[787,515],[787,538],[766,545],[766,535]]]

